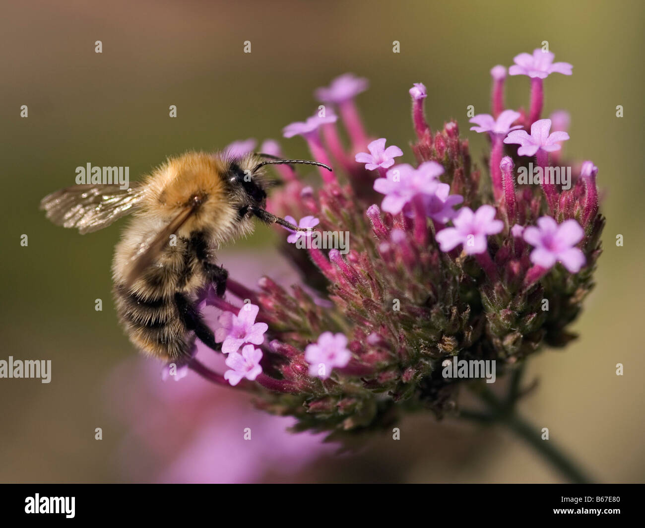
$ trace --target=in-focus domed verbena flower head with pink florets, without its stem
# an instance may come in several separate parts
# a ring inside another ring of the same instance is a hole
[[[515,57],[508,74],[530,77],[528,112],[504,106],[506,73],[491,70],[491,114],[470,119],[490,139],[486,178],[456,121],[430,129],[421,83],[410,89],[416,166],[395,164],[402,150],[368,137],[354,102],[366,79],[346,74],[317,90],[318,114],[284,136],[302,136],[334,170],[321,168],[321,183],[310,186],[279,167],[285,185],[269,205],[313,228],[281,232],[301,281],[288,290],[268,277],[257,288],[230,280],[226,300],[206,292],[204,303],[223,310],[215,336],[229,370],[189,366],[254,392],[266,411],[295,416],[297,430],[336,437],[391,426],[408,411],[457,409],[464,380],[442,376],[446,358],[495,360],[504,372],[544,345],[568,343],[600,254],[597,168],[562,158],[566,113],[541,119],[544,79],[570,75],[571,65],[542,50]],[[275,142],[261,151],[281,154]],[[551,181],[555,166],[563,179],[570,167],[570,185]],[[532,185],[522,172],[535,175]],[[349,232],[348,252],[321,248],[316,232]]]

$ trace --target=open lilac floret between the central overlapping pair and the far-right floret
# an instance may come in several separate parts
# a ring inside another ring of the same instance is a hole
[[[495,207],[482,205],[473,213],[470,207],[462,207],[453,218],[455,227],[447,227],[437,233],[437,242],[444,252],[462,244],[468,255],[486,252],[486,236],[499,233],[504,222],[495,219]]]

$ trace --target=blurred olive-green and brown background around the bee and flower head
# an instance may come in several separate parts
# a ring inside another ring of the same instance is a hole
[[[114,464],[127,427],[106,409],[103,392],[108,372],[135,354],[110,294],[123,222],[80,236],[38,210],[43,196],[74,183],[75,167],[129,166],[137,179],[191,148],[279,139],[284,125],[313,113],[313,90],[344,72],[370,79],[358,99],[368,130],[401,146],[406,161],[413,82],[428,87],[431,126],[455,117],[479,160],[484,137],[468,132],[466,107],[488,112],[491,66],[508,66],[544,40],[556,61],[574,66],[573,76],[545,81],[544,115],[570,112],[566,153],[599,167],[607,225],[597,289],[575,324],[581,338],[531,361],[530,378],[540,385],[521,411],[598,480],[642,482],[644,12],[640,1],[5,3],[0,358],[53,365],[48,385],[0,380],[0,482],[127,480]],[[97,40],[103,54],[94,52]],[[251,54],[243,53],[246,40]],[[394,40],[400,54],[392,53]],[[528,105],[526,77],[510,77],[507,104]],[[169,105],[177,105],[176,119]],[[615,117],[616,105],[624,117]],[[282,143],[289,156],[307,155],[301,139]],[[266,244],[267,234],[258,228],[240,247]],[[615,246],[616,234],[624,247]],[[94,310],[96,298],[103,312]],[[616,363],[624,376],[615,375]],[[103,427],[102,442],[95,427]],[[295,478],[561,480],[504,431],[430,417],[403,427],[400,442],[376,439],[342,463]]]

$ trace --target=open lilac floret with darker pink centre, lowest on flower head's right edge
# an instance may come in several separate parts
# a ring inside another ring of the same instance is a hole
[[[585,263],[584,254],[575,245],[582,240],[584,231],[577,221],[565,220],[560,225],[550,216],[537,219],[537,227],[524,229],[524,240],[535,249],[531,262],[544,269],[560,261],[571,273],[577,273]]]

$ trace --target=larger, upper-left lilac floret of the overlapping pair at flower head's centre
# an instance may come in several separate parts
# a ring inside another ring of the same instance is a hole
[[[437,178],[443,172],[444,168],[436,161],[426,161],[418,168],[407,163],[391,168],[386,178],[377,178],[374,181],[374,190],[386,195],[381,208],[397,214],[415,196],[433,196],[439,185]]]

